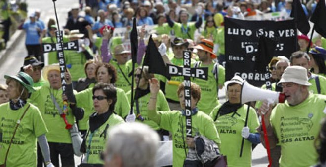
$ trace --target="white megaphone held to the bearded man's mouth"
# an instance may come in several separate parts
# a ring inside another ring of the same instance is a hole
[[[241,103],[268,100],[269,103],[284,103],[285,94],[255,87],[244,81],[241,89]]]

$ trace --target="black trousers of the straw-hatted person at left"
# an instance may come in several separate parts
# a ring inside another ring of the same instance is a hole
[[[59,154],[60,154],[62,167],[75,167],[74,150],[72,144],[54,143],[54,142],[49,142],[48,144],[50,148],[51,161],[54,166],[59,167]],[[37,167],[42,167],[42,166],[43,166],[43,155],[41,152],[41,148],[38,144]]]

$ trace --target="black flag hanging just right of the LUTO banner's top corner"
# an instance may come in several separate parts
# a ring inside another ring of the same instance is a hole
[[[307,35],[310,30],[310,25],[299,0],[293,0],[290,16],[294,18],[299,31]]]

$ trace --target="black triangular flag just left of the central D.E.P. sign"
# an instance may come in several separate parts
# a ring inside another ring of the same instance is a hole
[[[166,65],[163,61],[162,56],[160,55],[158,48],[155,46],[152,35],[148,41],[143,64],[149,67],[149,73],[160,74],[166,78],[169,78],[166,73]]]

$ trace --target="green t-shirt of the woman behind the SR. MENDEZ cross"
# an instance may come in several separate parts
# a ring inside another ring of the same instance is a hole
[[[160,127],[172,133],[173,139],[173,167],[182,167],[188,153],[186,141],[186,117],[180,111],[160,111]],[[221,140],[218,136],[213,120],[202,111],[191,117],[192,135],[200,134],[213,140],[220,146]],[[186,146],[186,148],[184,147]]]

